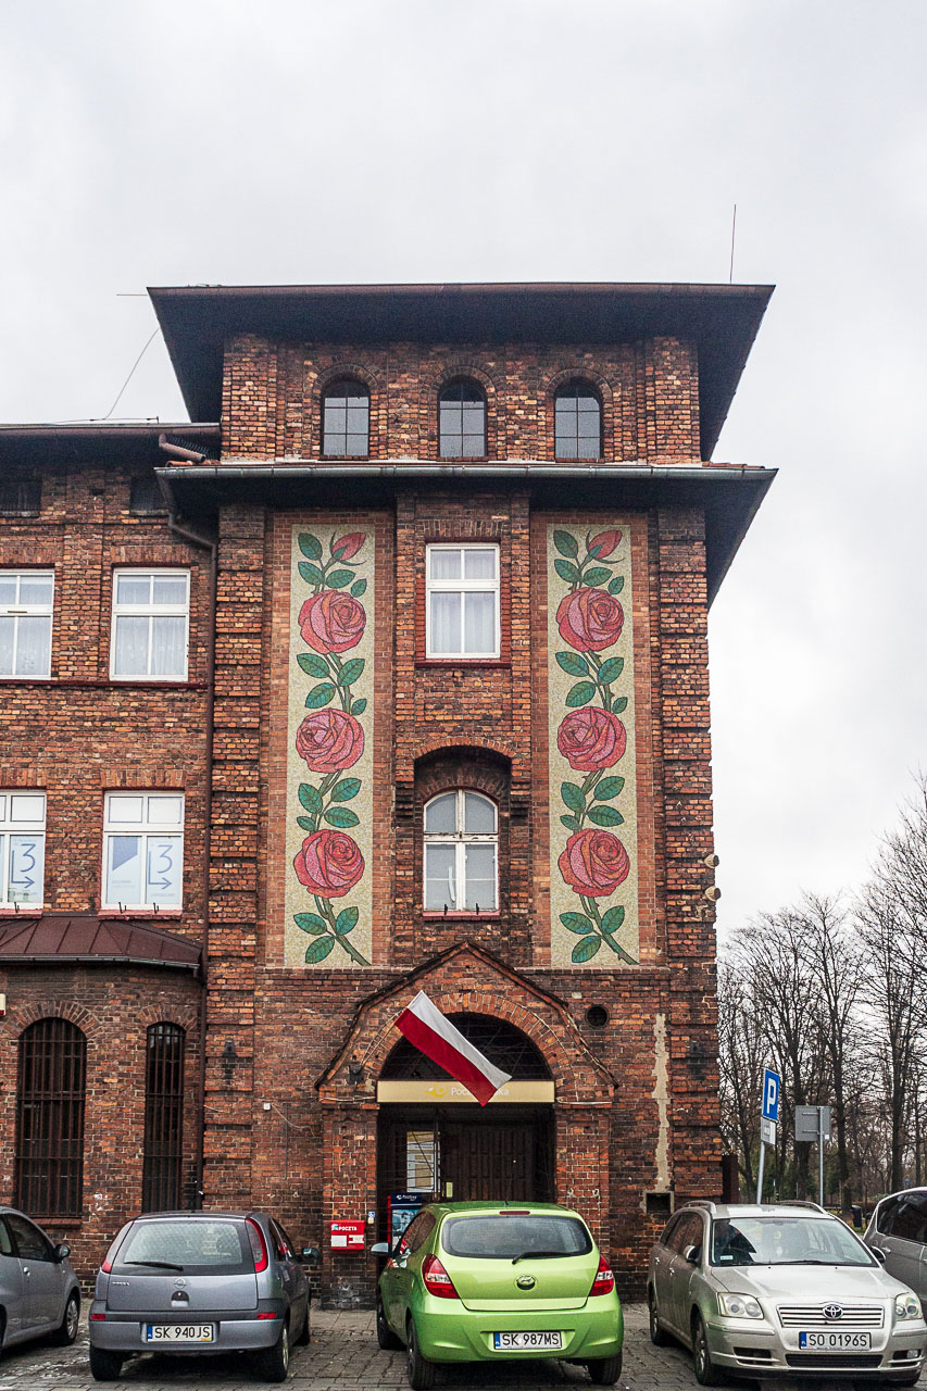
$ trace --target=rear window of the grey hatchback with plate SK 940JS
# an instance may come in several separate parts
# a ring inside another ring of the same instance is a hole
[[[232,1276],[255,1269],[245,1224],[206,1217],[135,1223],[122,1242],[117,1264],[136,1274],[185,1270]]]

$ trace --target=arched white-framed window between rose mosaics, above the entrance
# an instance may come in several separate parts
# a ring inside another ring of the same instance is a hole
[[[425,807],[425,911],[496,912],[498,815],[477,791],[444,791]]]

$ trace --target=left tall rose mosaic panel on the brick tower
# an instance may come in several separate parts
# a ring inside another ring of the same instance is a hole
[[[285,963],[370,964],[373,538],[291,541]]]

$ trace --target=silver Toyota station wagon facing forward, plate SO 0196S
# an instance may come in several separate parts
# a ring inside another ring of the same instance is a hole
[[[802,1374],[913,1387],[927,1345],[917,1296],[816,1203],[689,1203],[647,1274],[650,1338],[692,1348],[696,1381]]]

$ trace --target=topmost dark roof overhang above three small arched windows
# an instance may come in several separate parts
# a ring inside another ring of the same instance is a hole
[[[619,344],[692,339],[711,456],[771,285],[175,285],[149,295],[193,420],[221,412],[225,339]]]

